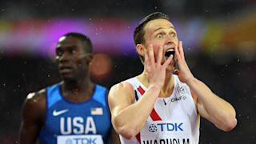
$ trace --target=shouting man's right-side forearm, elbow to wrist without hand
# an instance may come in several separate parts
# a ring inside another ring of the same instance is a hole
[[[229,131],[237,124],[235,110],[229,102],[215,95],[203,82],[194,78],[187,83],[192,94],[198,97],[198,113],[215,126]]]

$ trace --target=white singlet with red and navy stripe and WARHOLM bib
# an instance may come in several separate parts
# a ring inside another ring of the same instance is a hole
[[[135,102],[146,91],[137,78],[126,80],[134,87]],[[120,136],[122,144],[198,144],[198,113],[190,88],[174,75],[174,91],[168,98],[157,98],[145,125],[134,138]]]

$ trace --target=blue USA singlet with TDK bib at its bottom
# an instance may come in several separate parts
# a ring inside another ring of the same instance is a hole
[[[62,97],[59,83],[48,87],[41,144],[105,143],[111,127],[106,91],[95,85],[90,99],[75,103]]]

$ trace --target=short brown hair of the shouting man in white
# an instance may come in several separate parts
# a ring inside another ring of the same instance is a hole
[[[136,26],[135,30],[134,30],[134,45],[135,47],[138,44],[145,44],[145,31],[144,31],[144,26],[146,25],[147,22],[150,22],[154,19],[166,19],[168,21],[170,21],[170,18],[168,17],[168,15],[163,14],[161,12],[154,12],[152,14],[147,15],[145,18],[143,18],[139,23],[138,26]],[[143,58],[141,55],[139,55],[139,58],[141,58],[142,62],[143,62]]]

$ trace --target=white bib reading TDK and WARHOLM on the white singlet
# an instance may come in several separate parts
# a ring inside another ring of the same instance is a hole
[[[146,122],[140,136],[142,144],[192,144],[190,122],[153,121]]]

